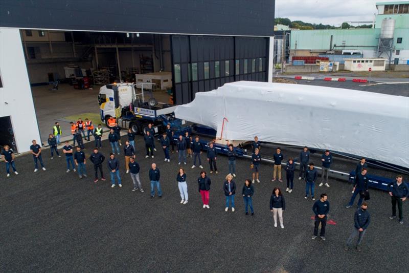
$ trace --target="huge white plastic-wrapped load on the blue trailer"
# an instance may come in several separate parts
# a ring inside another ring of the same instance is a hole
[[[175,111],[230,140],[328,149],[409,167],[409,98],[350,89],[239,81]],[[221,133],[223,118],[225,121]]]

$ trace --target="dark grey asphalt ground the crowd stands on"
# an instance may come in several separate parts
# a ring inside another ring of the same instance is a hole
[[[296,179],[294,191],[285,193],[284,229],[273,226],[269,197],[272,166],[261,164],[260,180],[253,197],[255,215],[244,215],[241,188],[251,177],[248,159],[238,159],[236,212],[224,212],[222,191],[228,172],[227,158],[218,157],[219,174],[212,179],[210,209],[203,209],[198,193],[199,169],[186,173],[189,203],[180,204],[175,181],[177,154],[164,162],[162,151],[144,158],[144,145],[137,139],[137,161],[145,193],[132,192],[121,154],[123,187],[110,188],[107,181],[65,173],[63,157],[50,159],[43,150],[47,171],[33,173],[31,155],[16,159],[19,175],[5,175],[0,165],[0,236],[2,272],[404,272],[407,271],[408,212],[405,223],[390,220],[391,200],[385,192],[371,190],[371,224],[363,239],[362,252],[346,252],[344,244],[353,228],[354,208],[345,208],[351,196],[347,182],[330,180],[331,187],[315,187],[315,196],[328,194],[330,213],[327,240],[311,240],[311,200],[304,199],[305,182]],[[108,156],[107,141],[102,153]],[[86,154],[93,143],[87,142]],[[157,143],[158,147],[159,144]],[[159,150],[159,149],[158,149]],[[289,154],[283,148],[283,154]],[[202,154],[202,159],[205,155]],[[148,170],[156,162],[161,170],[163,198],[151,199]],[[209,165],[203,163],[205,170]],[[357,202],[357,200],[355,200]],[[356,204],[356,203],[355,203]]]

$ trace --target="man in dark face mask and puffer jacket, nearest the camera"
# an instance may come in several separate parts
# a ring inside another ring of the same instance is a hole
[[[363,202],[361,207],[357,209],[354,215],[354,228],[352,233],[347,240],[347,245],[345,246],[345,251],[348,251],[351,247],[352,240],[358,236],[358,241],[356,242],[356,250],[361,251],[360,244],[363,239],[363,235],[367,232],[369,223],[371,222],[371,215],[368,212],[368,203]]]

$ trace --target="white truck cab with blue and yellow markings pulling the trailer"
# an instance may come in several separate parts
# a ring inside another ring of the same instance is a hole
[[[120,82],[102,86],[98,94],[101,120],[105,122],[115,117],[122,129],[131,129],[135,134],[143,134],[152,124],[155,135],[162,134],[168,123],[172,128],[179,128],[185,124],[184,120],[176,119],[175,105],[158,103],[150,97],[145,101],[143,87],[149,83]],[[137,88],[142,87],[141,93]]]

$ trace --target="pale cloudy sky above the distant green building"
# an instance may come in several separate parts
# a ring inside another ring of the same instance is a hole
[[[275,17],[340,26],[347,21],[371,21],[377,2],[392,0],[276,0]],[[396,2],[396,1],[395,1]]]

